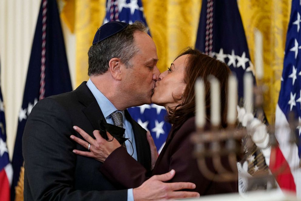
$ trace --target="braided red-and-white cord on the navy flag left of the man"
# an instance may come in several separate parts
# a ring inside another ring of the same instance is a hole
[[[40,97],[39,100],[45,97],[45,61],[46,61],[46,19],[47,19],[47,0],[43,0],[42,5],[42,58],[41,58],[41,80],[40,80]]]

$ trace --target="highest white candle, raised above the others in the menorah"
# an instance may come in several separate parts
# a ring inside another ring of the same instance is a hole
[[[262,54],[262,34],[258,29],[254,31],[255,36],[255,70],[256,78],[262,79],[263,76],[263,54]]]

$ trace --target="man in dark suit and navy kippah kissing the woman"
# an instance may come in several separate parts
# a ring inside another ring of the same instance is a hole
[[[127,108],[151,103],[158,79],[156,47],[142,23],[110,22],[97,30],[88,52],[90,79],[76,90],[40,100],[32,109],[23,134],[24,200],[134,200],[158,199],[162,194],[184,198],[193,194],[174,192],[193,189],[191,183],[164,183],[174,171],[151,178],[136,189],[118,189],[99,171],[102,163],[73,154],[81,147],[70,135],[80,137],[73,126],[92,137],[99,121],[125,129],[123,144],[146,169],[151,166],[146,131]],[[122,164],[118,164],[122,166]],[[127,172],[124,172],[127,174]],[[154,186],[162,187],[153,189]],[[145,191],[147,189],[147,191]],[[175,194],[173,194],[175,193]],[[194,195],[195,196],[195,195]]]

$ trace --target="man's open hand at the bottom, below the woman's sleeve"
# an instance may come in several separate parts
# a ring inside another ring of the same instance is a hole
[[[200,197],[198,192],[177,191],[182,189],[195,189],[195,184],[190,182],[164,183],[175,175],[171,170],[163,175],[154,175],[138,188],[133,189],[135,201],[142,200],[169,200]]]

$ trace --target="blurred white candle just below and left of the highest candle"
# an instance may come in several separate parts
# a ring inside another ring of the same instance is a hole
[[[246,113],[253,113],[253,76],[251,73],[244,75],[244,107]]]

